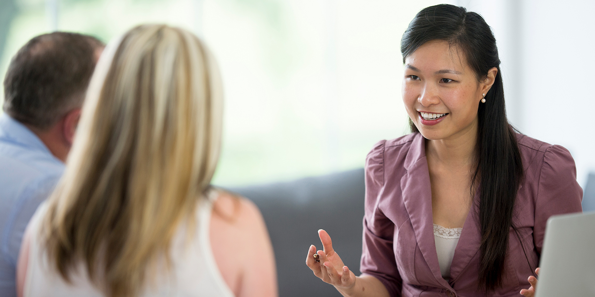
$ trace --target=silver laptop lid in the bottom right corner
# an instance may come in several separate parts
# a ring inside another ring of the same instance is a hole
[[[536,297],[595,296],[595,212],[547,220]]]

